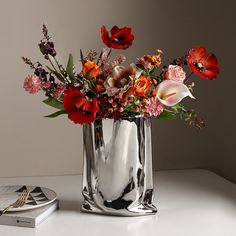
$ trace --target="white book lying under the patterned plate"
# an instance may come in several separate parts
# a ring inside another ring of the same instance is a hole
[[[35,228],[58,208],[59,201],[55,200],[46,206],[34,210],[6,212],[0,216],[0,225]]]

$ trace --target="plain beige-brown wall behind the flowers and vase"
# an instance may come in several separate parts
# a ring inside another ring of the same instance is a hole
[[[41,60],[37,43],[46,23],[62,62],[79,49],[99,49],[100,26],[130,25],[135,33],[130,61],[156,48],[166,63],[186,49],[205,45],[216,53],[219,79],[196,82],[196,101],[207,128],[153,120],[155,169],[209,168],[234,181],[235,4],[234,1],[1,0],[0,176],[76,174],[82,170],[82,130],[66,117],[46,119],[52,109],[22,89],[27,67],[20,56]],[[223,4],[224,3],[224,4]]]

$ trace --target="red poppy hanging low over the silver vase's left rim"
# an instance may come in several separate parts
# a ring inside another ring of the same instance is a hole
[[[70,88],[64,93],[63,105],[68,111],[68,118],[76,124],[87,124],[96,119],[97,99],[87,100],[77,88]]]

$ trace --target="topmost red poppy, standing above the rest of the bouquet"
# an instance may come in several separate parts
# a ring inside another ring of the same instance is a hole
[[[102,41],[109,47],[115,49],[126,49],[132,45],[134,35],[132,29],[129,27],[119,28],[113,26],[111,29],[111,36],[105,26],[101,28]]]

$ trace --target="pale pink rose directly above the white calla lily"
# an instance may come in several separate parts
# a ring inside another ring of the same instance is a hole
[[[186,74],[181,66],[169,65],[167,71],[164,73],[164,79],[184,82]]]

